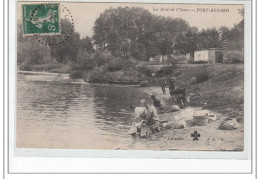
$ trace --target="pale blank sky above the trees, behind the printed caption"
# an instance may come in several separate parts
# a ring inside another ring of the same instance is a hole
[[[18,19],[21,18],[21,4],[18,4]],[[81,38],[93,35],[95,20],[110,7],[143,7],[155,15],[182,18],[199,30],[221,26],[232,28],[243,17],[238,13],[243,5],[202,5],[202,4],[141,4],[141,3],[61,3],[61,9],[71,12],[75,30]],[[64,15],[61,11],[61,15]],[[19,17],[20,15],[20,17]]]

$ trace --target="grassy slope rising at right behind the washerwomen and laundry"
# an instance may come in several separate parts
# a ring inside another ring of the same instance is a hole
[[[225,114],[229,117],[243,119],[244,115],[244,65],[182,65],[172,75],[175,76],[177,87],[186,87],[190,94],[191,106],[203,107]],[[148,93],[160,94],[159,87],[144,88]],[[168,92],[168,91],[167,91]]]

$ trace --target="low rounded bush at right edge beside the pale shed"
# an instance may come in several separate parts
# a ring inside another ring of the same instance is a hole
[[[244,63],[244,53],[239,50],[228,51],[224,54],[223,63]]]

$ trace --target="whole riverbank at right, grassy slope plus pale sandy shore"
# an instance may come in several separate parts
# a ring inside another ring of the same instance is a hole
[[[205,68],[205,67],[204,67]],[[228,150],[242,151],[244,148],[244,86],[242,65],[206,66],[210,77],[202,83],[196,83],[194,77],[201,66],[184,66],[174,76],[179,87],[186,87],[190,96],[190,107],[179,112],[159,114],[161,121],[192,120],[196,110],[209,110],[217,116],[217,120],[202,126],[185,126],[184,129],[168,129],[152,136],[152,142],[158,144],[157,150]],[[186,72],[186,73],[184,73]],[[149,95],[156,95],[164,101],[171,100],[162,93],[161,87],[143,87]],[[218,127],[223,119],[231,117],[239,121],[235,130],[220,130]],[[198,131],[200,138],[193,141],[191,133]],[[156,145],[155,145],[156,146]]]

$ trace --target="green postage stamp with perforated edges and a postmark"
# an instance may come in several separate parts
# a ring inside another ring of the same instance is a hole
[[[59,3],[24,4],[23,33],[24,35],[60,34]]]

